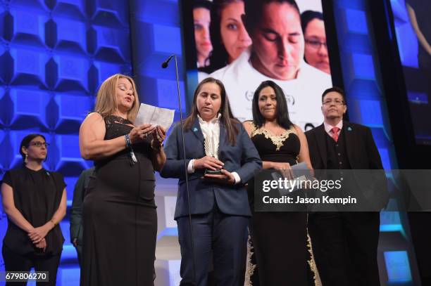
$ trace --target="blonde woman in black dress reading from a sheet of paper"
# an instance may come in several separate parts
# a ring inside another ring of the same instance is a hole
[[[133,80],[114,74],[80,128],[81,155],[96,167],[84,199],[81,285],[154,285],[154,170],[166,160],[165,130],[134,126],[138,109]]]

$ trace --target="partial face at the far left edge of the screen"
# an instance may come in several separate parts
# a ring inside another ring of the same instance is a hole
[[[211,22],[210,11],[207,8],[194,8],[193,21],[198,65],[199,67],[203,67],[209,53],[213,50],[209,33]]]

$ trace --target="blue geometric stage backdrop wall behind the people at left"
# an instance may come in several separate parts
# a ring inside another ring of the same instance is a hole
[[[0,178],[22,164],[23,136],[42,133],[45,168],[65,176],[70,206],[77,176],[92,166],[78,147],[82,119],[104,79],[132,74],[129,15],[128,1],[0,0]],[[0,207],[0,246],[6,225]],[[78,285],[68,219],[61,226],[58,285]]]

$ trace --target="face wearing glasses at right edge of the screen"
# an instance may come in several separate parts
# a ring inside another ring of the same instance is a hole
[[[304,31],[305,58],[307,63],[319,70],[331,73],[329,57],[327,56],[325,23],[320,19],[308,22]]]

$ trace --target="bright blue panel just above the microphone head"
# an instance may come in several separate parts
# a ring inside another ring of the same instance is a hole
[[[181,30],[179,27],[154,25],[154,51],[181,54]]]

